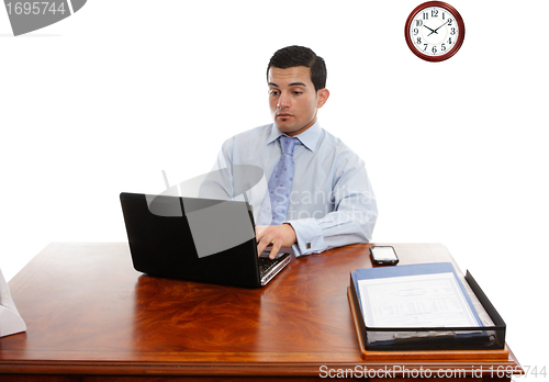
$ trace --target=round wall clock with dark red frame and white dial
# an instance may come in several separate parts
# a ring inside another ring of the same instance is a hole
[[[410,13],[404,26],[410,49],[426,61],[444,61],[453,56],[466,36],[459,12],[442,1],[428,1]]]

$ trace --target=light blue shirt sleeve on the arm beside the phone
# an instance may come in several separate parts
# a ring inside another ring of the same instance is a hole
[[[371,240],[378,207],[363,162],[347,164],[340,173],[332,191],[333,212],[322,218],[285,222],[295,231],[295,256]]]

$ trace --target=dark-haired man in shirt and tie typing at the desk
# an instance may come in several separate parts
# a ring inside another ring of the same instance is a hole
[[[227,139],[217,159],[229,171],[258,166],[269,180],[267,194],[250,201],[258,254],[270,245],[273,258],[281,247],[301,256],[369,241],[378,211],[365,165],[317,122],[329,98],[324,59],[306,47],[282,48],[267,82],[273,123]]]

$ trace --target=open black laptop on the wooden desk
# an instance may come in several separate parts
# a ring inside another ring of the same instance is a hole
[[[161,278],[224,285],[266,285],[291,255],[257,256],[247,202],[120,194],[134,268]]]

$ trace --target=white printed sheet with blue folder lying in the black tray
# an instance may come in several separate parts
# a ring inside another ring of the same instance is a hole
[[[480,327],[451,262],[358,269],[351,273],[367,327]]]

